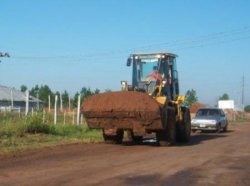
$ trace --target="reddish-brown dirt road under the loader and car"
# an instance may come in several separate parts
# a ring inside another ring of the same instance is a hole
[[[250,123],[189,144],[81,144],[0,157],[0,185],[250,185]]]

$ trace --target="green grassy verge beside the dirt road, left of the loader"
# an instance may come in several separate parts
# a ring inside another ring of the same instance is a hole
[[[98,143],[100,130],[89,129],[86,124],[51,124],[43,122],[42,115],[16,119],[0,116],[0,154],[20,152],[46,146],[70,143]]]

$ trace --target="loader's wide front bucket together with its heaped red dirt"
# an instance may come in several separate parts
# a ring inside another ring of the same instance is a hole
[[[161,106],[142,92],[96,94],[83,102],[81,112],[90,128],[132,129],[137,132],[162,129]]]

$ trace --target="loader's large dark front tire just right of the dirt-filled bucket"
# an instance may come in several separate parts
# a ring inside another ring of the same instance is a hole
[[[156,139],[160,146],[171,146],[176,142],[175,109],[167,107],[162,112],[164,129],[156,132]]]

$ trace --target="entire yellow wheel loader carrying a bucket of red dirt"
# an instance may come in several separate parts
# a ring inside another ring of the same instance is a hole
[[[124,132],[133,141],[155,134],[159,145],[190,139],[190,113],[179,95],[177,55],[166,52],[131,54],[132,85],[87,98],[81,111],[90,128],[103,130],[107,143],[122,143]]]

